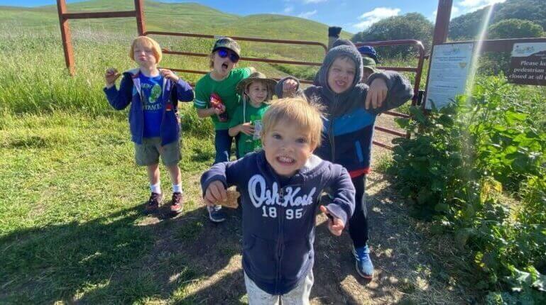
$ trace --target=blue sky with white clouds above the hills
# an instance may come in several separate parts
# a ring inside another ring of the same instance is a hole
[[[82,0],[67,0],[77,2]],[[113,0],[115,1],[115,0]],[[197,2],[226,13],[251,15],[255,13],[278,13],[307,18],[329,26],[342,26],[344,30],[356,33],[382,18],[418,12],[435,21],[438,0],[161,0],[162,2]],[[463,13],[506,0],[454,0],[452,18]],[[0,5],[21,6],[21,0],[0,0]],[[55,0],[24,0],[24,6],[56,4]],[[259,5],[256,5],[259,3]]]

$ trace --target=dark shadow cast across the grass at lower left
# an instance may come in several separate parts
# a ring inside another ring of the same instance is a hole
[[[223,226],[209,223],[204,209],[160,219],[143,217],[141,208],[2,236],[0,303],[233,303],[244,295],[241,272],[214,282],[214,294],[187,293],[240,252],[236,212]]]

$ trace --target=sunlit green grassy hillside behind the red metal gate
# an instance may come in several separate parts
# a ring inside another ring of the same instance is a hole
[[[327,25],[302,18],[274,14],[237,16],[192,3],[164,4],[145,1],[144,8],[147,30],[327,42]],[[68,11],[72,12],[131,9],[133,9],[132,0],[94,0],[68,4]],[[136,35],[134,18],[72,20],[70,27],[75,38],[95,32],[112,33],[116,35],[116,38],[124,40],[129,40]],[[31,9],[0,6],[0,30],[9,32],[13,28],[58,35],[56,6],[40,6]],[[350,35],[350,33],[343,33],[343,36],[347,38]],[[209,39],[164,36],[154,38],[172,50],[208,52],[212,45],[212,40]],[[188,45],[191,45],[191,48]],[[324,55],[322,48],[317,47],[293,47],[271,43],[241,43],[241,45],[243,55],[311,61],[320,61]],[[295,55],[298,56],[295,57]]]

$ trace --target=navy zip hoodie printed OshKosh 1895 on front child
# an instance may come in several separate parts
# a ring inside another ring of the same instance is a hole
[[[268,294],[290,292],[312,269],[322,189],[332,189],[334,195],[326,206],[330,214],[347,223],[354,211],[349,174],[315,155],[284,185],[263,151],[214,165],[201,177],[203,191],[216,180],[241,192],[243,268]]]

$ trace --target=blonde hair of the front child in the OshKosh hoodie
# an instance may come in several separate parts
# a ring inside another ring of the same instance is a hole
[[[313,149],[320,145],[322,135],[322,118],[320,107],[310,104],[306,99],[297,96],[271,101],[262,118],[262,136],[266,135],[279,123],[290,123],[299,126],[309,134]]]

